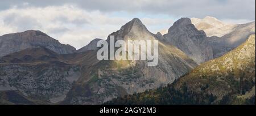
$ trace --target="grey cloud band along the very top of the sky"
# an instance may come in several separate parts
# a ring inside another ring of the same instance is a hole
[[[15,5],[14,5],[15,3]],[[64,4],[77,5],[88,11],[100,12],[146,12],[149,14],[166,14],[176,17],[187,16],[203,18],[210,15],[218,19],[247,19],[255,20],[254,0],[9,0],[1,3],[2,8],[10,6],[23,7],[31,5],[36,7],[62,6]]]

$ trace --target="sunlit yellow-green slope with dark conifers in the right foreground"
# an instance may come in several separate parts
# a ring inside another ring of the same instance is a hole
[[[105,104],[255,104],[255,35],[167,87]]]

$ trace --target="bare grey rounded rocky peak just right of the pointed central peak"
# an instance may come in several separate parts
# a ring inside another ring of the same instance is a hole
[[[176,46],[198,64],[213,58],[212,47],[204,31],[198,31],[189,18],[181,18],[163,35],[166,42]]]

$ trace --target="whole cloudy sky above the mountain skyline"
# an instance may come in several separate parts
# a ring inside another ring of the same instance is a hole
[[[149,31],[168,29],[181,17],[213,16],[227,23],[255,20],[255,0],[3,0],[0,36],[39,30],[76,49],[106,39],[133,18]]]

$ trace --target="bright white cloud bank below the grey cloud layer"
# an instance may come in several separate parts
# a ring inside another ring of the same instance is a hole
[[[12,7],[0,11],[0,35],[29,29],[40,30],[63,44],[79,49],[94,38],[105,39],[129,20],[131,18],[111,17],[100,11],[86,11],[74,5]],[[155,33],[162,28],[161,25],[168,26],[172,20],[142,18],[142,22]]]

